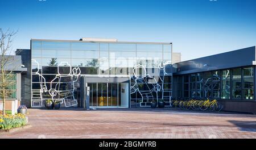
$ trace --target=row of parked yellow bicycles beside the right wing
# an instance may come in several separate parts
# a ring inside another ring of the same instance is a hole
[[[210,101],[207,100],[189,100],[189,101],[182,101],[176,100],[172,103],[172,106],[176,109],[182,110],[209,110],[209,111],[221,111],[223,109],[223,105],[217,102],[216,99]]]

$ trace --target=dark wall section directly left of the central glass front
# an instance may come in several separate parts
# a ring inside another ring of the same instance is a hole
[[[17,49],[16,55],[22,56],[22,64],[27,68],[27,72],[21,74],[21,104],[31,107],[31,51]]]

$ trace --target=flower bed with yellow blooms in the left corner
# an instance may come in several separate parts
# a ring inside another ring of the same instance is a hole
[[[0,130],[9,130],[11,128],[18,128],[27,124],[26,115],[0,115]]]

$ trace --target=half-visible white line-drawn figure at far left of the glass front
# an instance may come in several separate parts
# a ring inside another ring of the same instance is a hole
[[[36,69],[32,69],[32,77],[38,80],[40,84],[40,89],[32,89],[31,106],[42,107],[43,93],[47,92],[46,79],[42,76],[42,74],[39,73],[39,63],[34,59],[31,60],[31,63],[37,66]],[[34,103],[40,103],[40,104],[35,105]]]

